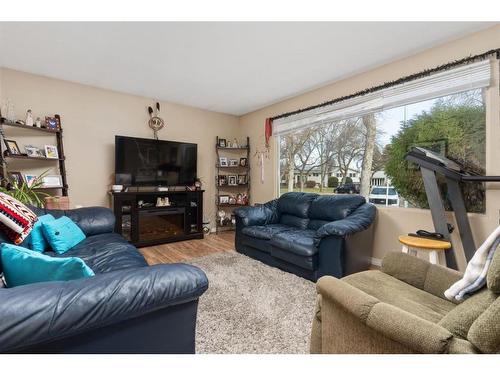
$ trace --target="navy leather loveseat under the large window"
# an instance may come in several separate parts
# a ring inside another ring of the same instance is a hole
[[[376,208],[360,195],[285,193],[235,210],[236,250],[316,281],[368,269]]]

